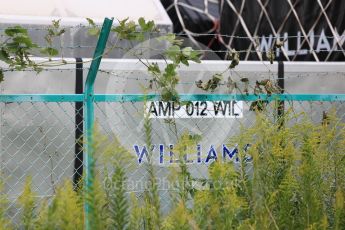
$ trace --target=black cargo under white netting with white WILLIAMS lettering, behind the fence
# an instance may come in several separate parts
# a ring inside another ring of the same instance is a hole
[[[326,0],[161,0],[175,32],[227,58],[231,49],[243,60],[265,60],[277,40],[285,40],[284,60],[344,60],[341,1]],[[220,48],[221,47],[221,48]],[[275,51],[275,49],[274,49]]]

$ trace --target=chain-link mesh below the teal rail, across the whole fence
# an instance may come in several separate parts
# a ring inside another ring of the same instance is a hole
[[[152,143],[155,145],[153,164],[163,213],[169,210],[171,192],[174,191],[168,179],[169,170],[177,165],[170,145],[176,144],[184,132],[200,135],[202,147],[190,154],[189,160],[193,163],[188,167],[193,177],[207,178],[207,168],[212,162],[212,159],[207,162],[211,145],[221,158],[222,144],[229,143],[241,128],[253,126],[256,115],[249,110],[251,103],[243,103],[243,117],[237,118],[150,119]],[[17,199],[26,177],[32,177],[33,190],[38,199],[49,199],[54,196],[57,185],[64,180],[73,180],[78,173],[75,162],[82,159],[76,159],[79,153],[76,152],[76,144],[82,145],[82,141],[76,139],[76,129],[81,129],[81,126],[76,124],[75,115],[80,111],[75,110],[75,102],[1,102],[0,106],[0,170],[4,192],[10,200],[7,214],[15,222],[21,215]],[[274,119],[274,102],[268,108],[268,115]],[[315,123],[321,123],[324,112],[332,110],[345,121],[344,101],[285,101],[285,110],[291,109],[296,114],[304,113]],[[95,117],[99,134],[110,141],[116,137],[133,156],[128,164],[126,186],[129,193],[134,192],[141,198],[147,189],[147,158],[143,155],[139,163],[140,156],[135,146],[139,151],[145,146],[144,102],[96,102]],[[163,150],[160,145],[164,145]],[[234,146],[228,147],[231,149]],[[102,154],[102,149],[95,152],[96,156]],[[235,157],[226,159],[236,164]],[[98,165],[100,173],[102,167]],[[248,171],[252,170],[248,168]]]

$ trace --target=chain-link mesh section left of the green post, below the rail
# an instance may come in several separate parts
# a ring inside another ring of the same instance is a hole
[[[1,103],[1,166],[4,192],[11,201],[9,215],[16,219],[16,204],[28,176],[40,198],[74,170],[74,103]]]

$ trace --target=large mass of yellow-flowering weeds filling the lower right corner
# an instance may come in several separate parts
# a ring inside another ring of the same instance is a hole
[[[302,119],[282,127],[267,117],[257,113],[255,126],[230,140],[239,146],[239,166],[212,163],[192,208],[177,202],[164,222],[167,229],[343,228],[343,124],[329,115],[319,125]],[[247,151],[246,143],[252,144]],[[253,175],[246,173],[248,154]]]

